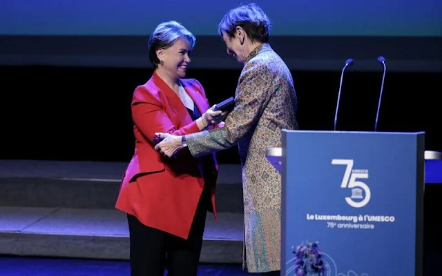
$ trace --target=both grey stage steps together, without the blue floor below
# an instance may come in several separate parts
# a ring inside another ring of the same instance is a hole
[[[115,201],[126,163],[0,160],[0,255],[128,259]],[[201,262],[241,263],[239,165],[220,165],[218,221],[207,214]]]

